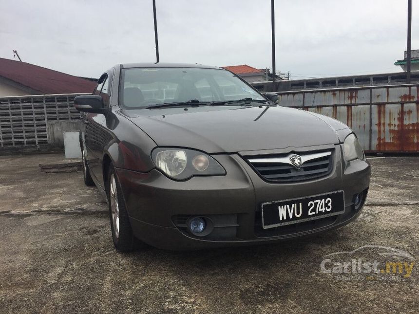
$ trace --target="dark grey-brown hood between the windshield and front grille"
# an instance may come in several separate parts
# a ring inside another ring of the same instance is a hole
[[[239,152],[339,143],[343,123],[281,106],[222,106],[121,110],[158,146],[208,153]],[[327,121],[327,122],[326,122]]]

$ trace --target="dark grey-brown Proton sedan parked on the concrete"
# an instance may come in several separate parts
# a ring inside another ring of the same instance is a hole
[[[114,244],[270,243],[360,213],[370,166],[343,123],[281,107],[231,72],[120,64],[75,98],[84,181],[109,203]]]

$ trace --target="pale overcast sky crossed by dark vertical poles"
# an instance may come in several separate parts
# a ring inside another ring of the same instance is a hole
[[[419,49],[413,0],[412,49]],[[160,61],[271,68],[270,0],[156,0]],[[0,57],[98,77],[155,62],[152,0],[0,0]],[[399,72],[407,0],[276,0],[277,71]]]

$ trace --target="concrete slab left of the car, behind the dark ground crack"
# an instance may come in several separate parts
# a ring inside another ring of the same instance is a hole
[[[44,173],[40,163],[54,163],[63,154],[0,156],[0,213],[83,212],[106,210],[106,201],[81,172]]]

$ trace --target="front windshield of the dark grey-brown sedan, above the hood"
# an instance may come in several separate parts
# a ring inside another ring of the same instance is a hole
[[[131,68],[123,69],[121,105],[141,109],[165,103],[265,100],[234,74],[218,69]]]

